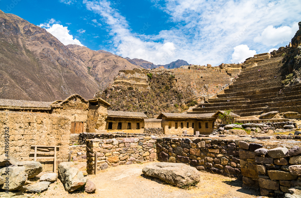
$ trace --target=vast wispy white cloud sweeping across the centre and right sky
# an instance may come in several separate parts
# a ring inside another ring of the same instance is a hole
[[[88,10],[99,14],[101,21],[107,24],[106,28],[112,38],[107,43],[112,42],[112,45],[104,50],[123,57],[142,58],[154,64],[184,59],[198,65],[209,63],[217,66],[221,62],[229,62],[233,48],[241,44],[264,53],[270,48],[263,40],[265,34],[263,37],[260,35],[260,42],[253,42],[259,32],[264,32],[269,25],[287,25],[292,27],[290,29],[293,32],[296,19],[301,18],[301,1],[296,0],[151,1],[157,9],[167,13],[168,22],[175,24],[172,28],[162,29],[158,34],[151,35],[147,35],[147,31],[135,33],[110,1],[84,0],[83,3]],[[92,22],[94,23],[93,20]],[[281,40],[283,38],[283,35],[279,37]],[[242,51],[241,56],[235,55],[232,60],[242,62],[244,52],[247,53]]]

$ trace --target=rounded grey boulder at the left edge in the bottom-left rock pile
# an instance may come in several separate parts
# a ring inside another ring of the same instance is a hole
[[[24,166],[10,166],[1,169],[0,176],[2,178],[6,178],[7,174],[9,175],[8,183],[3,184],[1,187],[3,190],[18,190],[25,184],[27,180],[27,173],[25,172]]]

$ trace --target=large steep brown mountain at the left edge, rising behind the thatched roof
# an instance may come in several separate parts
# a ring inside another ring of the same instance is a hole
[[[85,63],[57,38],[0,10],[0,98],[36,101],[86,99],[99,91]]]

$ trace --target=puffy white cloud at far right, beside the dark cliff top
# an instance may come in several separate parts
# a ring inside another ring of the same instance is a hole
[[[260,42],[266,46],[275,46],[283,43],[288,44],[298,29],[298,23],[294,23],[292,27],[281,26],[275,28],[268,26],[263,30],[261,35],[254,38],[254,42]]]

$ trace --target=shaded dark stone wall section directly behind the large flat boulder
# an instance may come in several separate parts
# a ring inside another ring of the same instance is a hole
[[[188,163],[198,170],[238,178],[238,140],[158,138],[157,158],[161,162]]]

